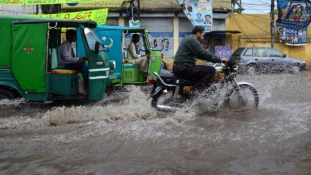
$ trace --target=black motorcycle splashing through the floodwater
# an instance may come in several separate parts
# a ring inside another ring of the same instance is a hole
[[[258,108],[256,88],[250,83],[235,80],[239,68],[233,59],[214,67],[213,83],[199,94],[190,93],[196,82],[176,77],[164,69],[160,74],[154,72],[157,80],[148,77],[148,83],[153,84],[149,97],[152,98],[151,106],[158,110],[178,110],[198,101],[208,111],[219,111],[222,106]]]

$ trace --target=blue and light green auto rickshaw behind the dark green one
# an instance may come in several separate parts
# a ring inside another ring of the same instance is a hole
[[[161,69],[161,61],[163,55],[160,51],[153,50],[151,35],[144,28],[121,27],[121,26],[97,26],[94,31],[101,39],[102,44],[109,50],[108,56],[110,60],[116,62],[116,68],[110,73],[115,86],[123,86],[123,84],[146,84],[147,77],[139,71],[139,68],[132,63],[123,63],[126,60],[127,47],[131,41],[131,34],[139,34],[140,54],[149,56],[149,76],[156,79],[153,72],[159,73]],[[81,38],[77,38],[77,55],[85,55],[84,47],[81,45]],[[164,65],[162,65],[163,67]]]

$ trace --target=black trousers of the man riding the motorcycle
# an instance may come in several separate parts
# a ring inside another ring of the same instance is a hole
[[[174,63],[173,73],[175,76],[185,80],[196,82],[194,87],[202,90],[210,86],[211,78],[215,75],[212,66],[195,65],[192,63]]]

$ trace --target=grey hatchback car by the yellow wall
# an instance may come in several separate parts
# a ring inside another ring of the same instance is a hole
[[[240,72],[251,75],[257,72],[288,71],[299,73],[306,70],[304,61],[291,58],[274,48],[243,47],[237,49],[232,57]]]

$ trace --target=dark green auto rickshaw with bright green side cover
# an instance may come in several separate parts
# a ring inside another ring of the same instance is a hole
[[[31,101],[101,100],[113,66],[92,21],[0,16],[0,99],[19,96]],[[88,57],[89,93],[78,93],[78,71],[57,69],[62,29],[79,28]]]

